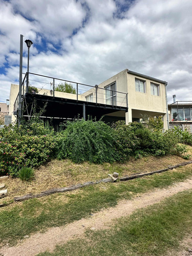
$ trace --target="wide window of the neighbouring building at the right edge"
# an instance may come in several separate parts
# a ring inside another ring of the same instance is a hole
[[[192,108],[172,108],[173,121],[190,121],[192,116]]]

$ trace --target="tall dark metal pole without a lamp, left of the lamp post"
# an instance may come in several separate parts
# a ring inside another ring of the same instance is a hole
[[[22,67],[23,67],[23,35],[20,35],[20,61],[19,61],[19,92],[18,92],[18,126],[22,119]]]

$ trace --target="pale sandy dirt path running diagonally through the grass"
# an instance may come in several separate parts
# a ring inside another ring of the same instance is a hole
[[[192,179],[168,188],[155,189],[133,200],[120,201],[116,207],[103,209],[89,219],[81,219],[63,227],[53,227],[45,233],[35,233],[14,247],[2,247],[0,255],[32,256],[45,250],[53,251],[57,244],[64,244],[71,239],[82,237],[86,228],[91,228],[92,230],[110,228],[113,224],[113,219],[129,216],[136,209],[155,204],[164,198],[187,189],[192,189]]]

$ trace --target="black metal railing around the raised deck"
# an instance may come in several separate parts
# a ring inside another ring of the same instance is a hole
[[[26,93],[26,82],[27,73],[22,82],[22,99]],[[29,83],[30,86],[36,87],[39,91],[38,94],[47,95],[51,97],[60,97],[74,99],[77,101],[94,102],[96,104],[105,104],[110,106],[119,106],[128,108],[128,97],[127,93],[119,91],[109,90],[96,86],[90,86],[89,84],[74,82],[70,80],[60,79],[51,76],[45,76],[29,72]],[[75,93],[62,93],[57,91],[58,84],[68,83],[70,84]],[[51,88],[52,86],[52,88]],[[48,87],[51,89],[49,90]],[[56,90],[55,90],[56,89]],[[14,112],[18,110],[18,95],[14,103]]]

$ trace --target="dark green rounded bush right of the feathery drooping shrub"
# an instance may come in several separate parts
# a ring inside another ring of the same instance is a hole
[[[129,159],[129,156],[140,158],[147,154],[164,156],[172,153],[178,143],[177,136],[172,131],[153,132],[138,122],[125,125],[124,121],[118,121],[113,127],[124,159]]]

